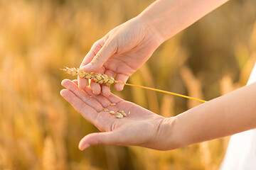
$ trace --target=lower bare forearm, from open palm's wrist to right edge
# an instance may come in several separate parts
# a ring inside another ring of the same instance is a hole
[[[170,128],[171,149],[256,128],[256,83],[176,116]]]

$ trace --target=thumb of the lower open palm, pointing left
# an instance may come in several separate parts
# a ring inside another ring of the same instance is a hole
[[[117,145],[121,143],[122,137],[118,132],[95,132],[86,135],[79,142],[79,149],[83,150],[92,145]]]

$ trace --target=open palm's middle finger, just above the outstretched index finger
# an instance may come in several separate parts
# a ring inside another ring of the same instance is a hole
[[[78,96],[84,103],[91,106],[95,109],[95,111],[100,112],[102,111],[102,105],[95,100],[95,98],[90,97],[84,90],[79,89],[78,86],[69,79],[64,79],[61,84],[68,90],[72,91],[73,94]]]

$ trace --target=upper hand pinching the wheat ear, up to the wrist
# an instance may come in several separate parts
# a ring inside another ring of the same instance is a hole
[[[126,82],[139,67],[151,57],[161,44],[161,36],[142,18],[133,18],[111,30],[104,38],[92,45],[80,68],[85,72],[105,73],[116,80]],[[78,86],[86,89],[87,79],[78,77]],[[110,86],[100,86],[92,81],[90,87],[94,94],[110,95]],[[123,84],[115,84],[121,91]]]

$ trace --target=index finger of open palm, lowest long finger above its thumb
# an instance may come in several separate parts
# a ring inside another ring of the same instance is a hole
[[[63,89],[60,91],[60,95],[63,96],[63,98],[65,98],[65,100],[68,101],[68,103],[70,103],[86,120],[91,123],[92,120],[95,120],[97,116],[95,109],[84,103],[78,96],[75,96],[72,91]]]

